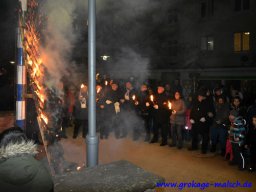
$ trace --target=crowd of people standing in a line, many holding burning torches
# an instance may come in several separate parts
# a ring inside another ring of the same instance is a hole
[[[101,139],[110,132],[116,138],[132,133],[133,140],[142,136],[145,142],[169,145],[182,149],[184,133],[191,136],[191,151],[217,153],[238,165],[240,170],[255,170],[256,163],[256,103],[243,105],[242,92],[227,96],[218,86],[211,91],[201,86],[187,98],[176,81],[174,86],[159,82],[155,89],[146,83],[139,86],[132,81],[121,83],[104,80],[96,86],[97,130]],[[73,138],[79,129],[88,132],[88,88],[71,85],[65,92],[62,137],[73,119]],[[161,140],[160,140],[161,138]],[[170,143],[168,143],[168,139]]]

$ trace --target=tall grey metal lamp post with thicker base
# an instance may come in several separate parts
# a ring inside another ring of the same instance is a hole
[[[87,167],[98,165],[99,138],[96,135],[96,0],[88,2],[89,131],[86,137]]]

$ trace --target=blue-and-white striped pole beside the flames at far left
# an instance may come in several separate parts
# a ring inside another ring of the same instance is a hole
[[[26,87],[26,68],[23,62],[23,46],[21,29],[17,29],[17,100],[16,100],[16,125],[25,129],[26,101],[24,97],[24,90]]]

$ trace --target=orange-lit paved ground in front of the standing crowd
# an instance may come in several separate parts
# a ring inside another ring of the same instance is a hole
[[[65,158],[79,165],[86,159],[85,141],[82,137],[77,139],[64,139],[61,141]],[[178,150],[159,144],[149,144],[132,141],[129,138],[115,139],[110,136],[107,140],[100,140],[99,164],[106,164],[118,160],[127,160],[137,166],[153,172],[166,179],[166,182],[245,182],[253,183],[250,189],[214,189],[207,191],[256,191],[256,174],[239,171],[237,167],[228,165],[219,155],[200,155],[199,151],[191,152],[187,149]],[[174,191],[174,190],[169,190]],[[182,190],[188,191],[188,190]],[[191,191],[191,190],[189,190]],[[192,190],[192,191],[200,191]]]

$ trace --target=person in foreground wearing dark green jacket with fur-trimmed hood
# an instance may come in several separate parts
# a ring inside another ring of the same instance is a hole
[[[20,128],[0,134],[0,191],[53,192],[46,168],[34,158],[37,147]]]

